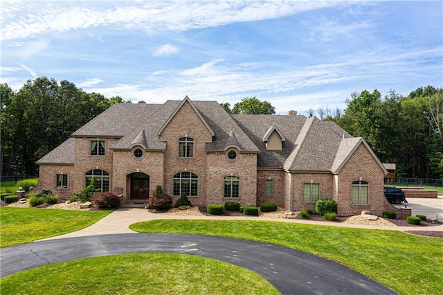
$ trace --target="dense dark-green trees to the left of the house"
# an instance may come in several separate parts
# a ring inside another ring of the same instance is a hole
[[[38,175],[38,159],[114,103],[124,102],[46,77],[28,80],[19,91],[0,84],[0,100],[2,176]]]

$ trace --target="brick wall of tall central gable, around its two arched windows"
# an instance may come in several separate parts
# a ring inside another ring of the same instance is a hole
[[[194,139],[194,157],[179,157],[179,138]],[[164,157],[164,187],[163,191],[173,195],[173,177],[178,172],[188,171],[197,175],[198,196],[189,197],[194,205],[206,204],[206,147],[207,141],[212,141],[212,135],[201,121],[189,102],[185,102],[177,111],[174,118],[163,129],[161,141],[166,141]],[[179,196],[172,197],[175,202]]]

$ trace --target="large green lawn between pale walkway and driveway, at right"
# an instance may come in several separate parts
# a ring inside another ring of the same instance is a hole
[[[443,238],[247,220],[153,220],[130,228],[143,233],[221,235],[280,244],[347,265],[401,294],[443,294]]]

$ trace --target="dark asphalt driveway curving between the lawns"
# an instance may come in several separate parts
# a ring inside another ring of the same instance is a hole
[[[44,240],[0,249],[1,278],[33,267],[123,253],[213,258],[260,274],[282,294],[397,294],[336,262],[273,244],[208,235],[123,233]]]

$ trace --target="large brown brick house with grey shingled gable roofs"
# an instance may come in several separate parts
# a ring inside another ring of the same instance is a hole
[[[117,104],[37,161],[38,188],[62,198],[87,186],[143,202],[157,185],[193,205],[273,202],[291,211],[318,198],[338,215],[395,210],[386,168],[368,143],[333,122],[289,115],[230,115],[215,101]]]

